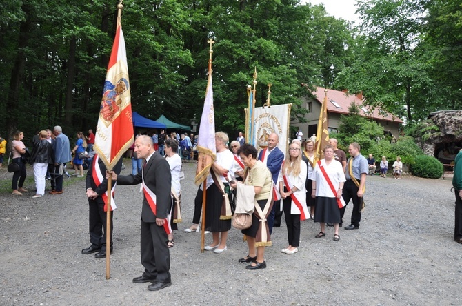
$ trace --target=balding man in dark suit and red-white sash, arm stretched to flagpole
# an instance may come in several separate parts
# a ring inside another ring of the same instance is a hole
[[[172,285],[170,278],[170,252],[168,249],[168,212],[172,205],[171,175],[168,162],[155,152],[152,138],[139,136],[134,142],[134,154],[145,159],[141,173],[117,176],[112,180],[119,185],[143,183],[143,209],[141,211],[141,264],[143,275],[133,278],[133,283],[152,283],[148,290],[157,291]]]

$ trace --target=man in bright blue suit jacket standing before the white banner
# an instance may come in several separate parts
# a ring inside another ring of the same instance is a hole
[[[259,153],[259,161],[262,161],[270,170],[274,186],[277,185],[277,177],[279,175],[279,171],[281,171],[282,162],[284,161],[284,154],[281,150],[279,150],[279,147],[277,147],[278,143],[279,136],[276,133],[270,134],[270,136],[268,136],[268,147],[261,150]],[[273,196],[275,196],[275,192],[277,192],[277,190],[273,190]],[[272,207],[271,214],[268,217],[268,226],[270,227],[270,234],[272,233],[273,225],[275,225],[276,227],[279,227],[281,225],[282,214],[279,201],[280,200],[277,201],[276,199],[274,199],[274,205]],[[274,221],[274,217],[277,215],[279,215],[279,222],[278,220],[276,220],[276,222]]]

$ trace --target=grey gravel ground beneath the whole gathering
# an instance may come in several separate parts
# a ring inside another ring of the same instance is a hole
[[[248,271],[237,262],[247,254],[238,230],[222,254],[201,254],[200,234],[183,232],[192,221],[195,167],[183,165],[173,285],[160,292],[132,283],[143,272],[139,186],[117,187],[110,280],[104,259],[81,254],[90,245],[84,179],[65,179],[62,195],[0,194],[0,305],[462,305],[450,179],[369,177],[360,230],[341,229],[334,242],[332,227],[316,239],[319,225],[304,221],[299,252],[286,255],[283,223],[266,249],[268,267]],[[0,180],[11,176],[0,171]]]

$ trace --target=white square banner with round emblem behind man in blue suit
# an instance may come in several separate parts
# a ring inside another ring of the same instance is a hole
[[[268,147],[268,136],[279,136],[278,147],[284,155],[287,152],[290,136],[290,108],[292,104],[271,105],[270,108],[254,109],[254,143],[257,150]]]

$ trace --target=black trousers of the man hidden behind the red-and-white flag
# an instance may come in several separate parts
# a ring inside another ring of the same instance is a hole
[[[98,203],[92,199],[88,199],[88,225],[90,232],[90,243],[92,247],[100,248],[103,251],[106,251],[106,221],[107,213],[104,211],[104,204]],[[112,250],[112,229],[114,228],[114,223],[112,223],[112,218],[114,212],[111,212],[111,232],[110,232],[110,249]]]

